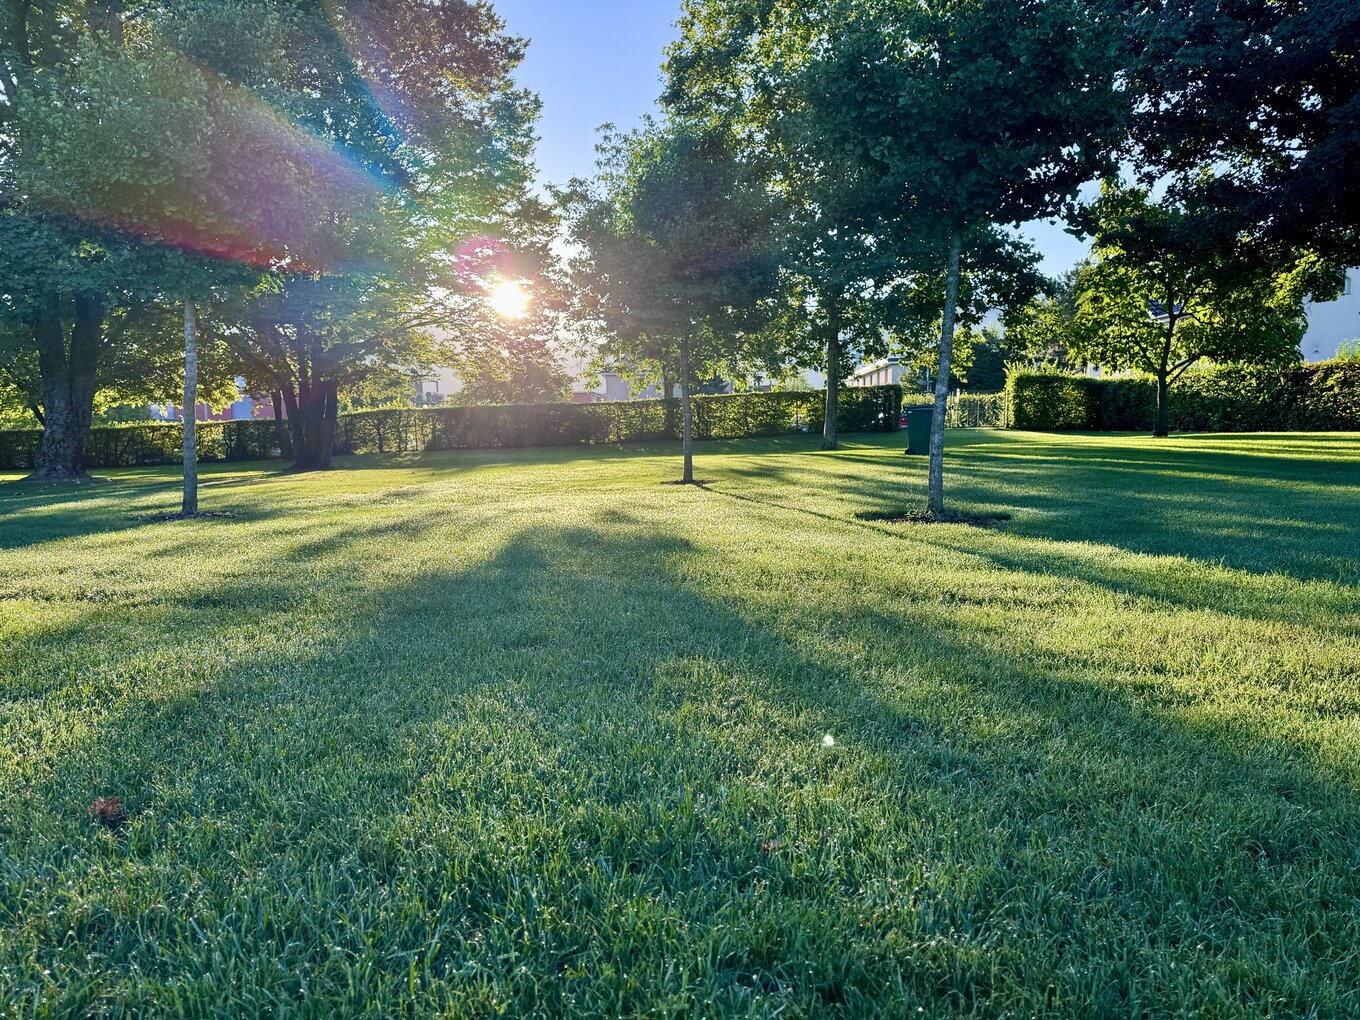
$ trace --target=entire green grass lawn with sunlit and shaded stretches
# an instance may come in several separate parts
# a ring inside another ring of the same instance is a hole
[[[0,1015],[1360,1016],[1360,435],[903,445],[8,476]]]

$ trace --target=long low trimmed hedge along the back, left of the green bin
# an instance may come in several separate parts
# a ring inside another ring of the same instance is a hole
[[[839,404],[840,431],[891,431],[898,427],[902,390],[896,386],[846,388],[840,392]],[[821,392],[695,397],[694,431],[699,439],[821,431],[824,408],[826,394]],[[0,469],[31,469],[41,437],[37,430],[0,431]],[[679,438],[679,400],[393,408],[341,415],[335,450],[337,454],[413,453]],[[177,423],[97,428],[90,434],[86,460],[91,468],[174,464],[181,457],[182,442]],[[271,420],[199,424],[199,458],[203,461],[250,461],[276,456],[277,439]]]

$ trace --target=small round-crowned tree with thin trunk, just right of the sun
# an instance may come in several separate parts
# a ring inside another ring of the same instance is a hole
[[[597,184],[563,196],[575,279],[608,356],[677,367],[681,481],[692,484],[695,382],[741,360],[770,314],[778,204],[721,129],[649,124],[601,151]]]

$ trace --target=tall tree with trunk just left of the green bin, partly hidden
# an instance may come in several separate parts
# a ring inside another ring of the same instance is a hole
[[[906,324],[885,283],[899,283],[894,253],[876,243],[877,184],[817,146],[826,109],[801,91],[800,73],[826,41],[826,7],[687,0],[666,54],[665,103],[721,124],[785,203],[786,307],[766,355],[826,375],[821,447],[834,450],[840,386],[861,360],[885,356]]]

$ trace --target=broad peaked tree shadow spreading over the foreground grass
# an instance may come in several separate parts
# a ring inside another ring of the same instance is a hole
[[[296,551],[320,616],[120,623],[185,635],[174,681],[35,777],[0,887],[50,1002],[1360,1008],[1355,770],[1265,722],[947,605],[714,589],[740,564],[627,511],[381,589],[335,573],[366,530]]]

